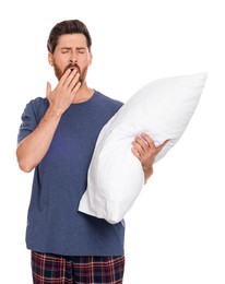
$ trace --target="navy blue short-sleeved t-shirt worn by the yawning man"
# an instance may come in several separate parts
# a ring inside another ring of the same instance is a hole
[[[19,143],[37,127],[48,106],[42,97],[26,105]],[[123,255],[123,221],[112,225],[78,211],[99,131],[121,106],[95,91],[88,100],[72,104],[62,115],[50,147],[34,171],[28,249],[64,256]]]

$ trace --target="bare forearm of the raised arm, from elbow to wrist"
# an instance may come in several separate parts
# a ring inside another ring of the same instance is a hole
[[[50,146],[60,118],[61,115],[49,107],[37,128],[19,144],[16,157],[22,170],[28,173],[40,163]]]

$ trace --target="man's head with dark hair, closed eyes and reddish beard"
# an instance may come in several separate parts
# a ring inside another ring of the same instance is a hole
[[[49,34],[48,60],[60,80],[68,69],[78,69],[80,81],[85,81],[92,63],[92,38],[86,26],[79,20],[63,21],[54,26]]]

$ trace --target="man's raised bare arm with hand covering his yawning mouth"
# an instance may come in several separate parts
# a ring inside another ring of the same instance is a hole
[[[81,86],[79,76],[80,74],[75,70],[72,72],[68,70],[52,92],[50,83],[47,83],[49,108],[36,129],[16,149],[16,157],[22,170],[26,173],[31,171],[45,156],[62,114],[71,105]]]

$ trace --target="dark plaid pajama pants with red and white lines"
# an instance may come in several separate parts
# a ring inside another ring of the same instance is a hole
[[[32,251],[34,284],[121,284],[125,257],[66,257]]]

